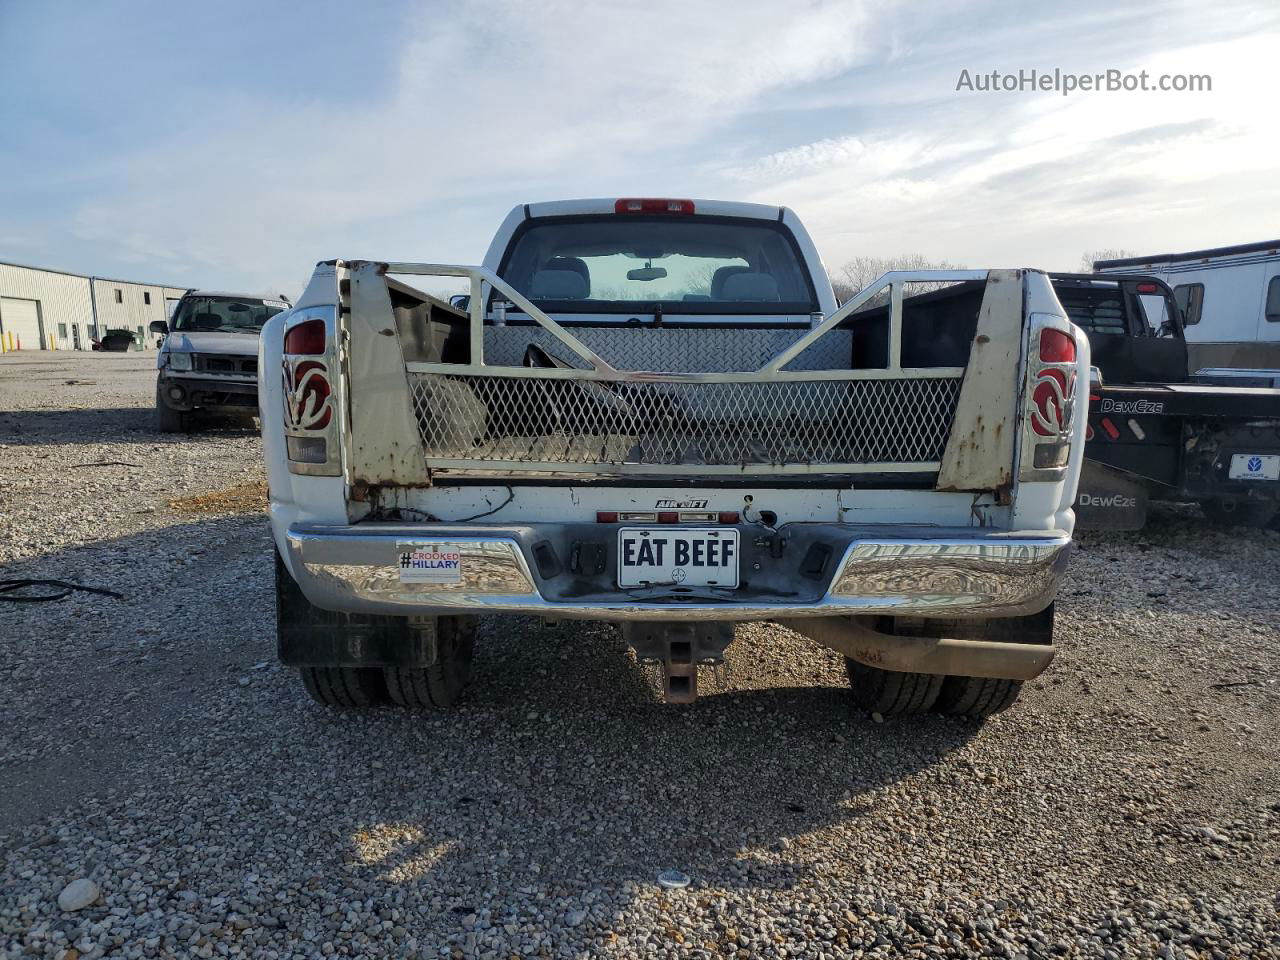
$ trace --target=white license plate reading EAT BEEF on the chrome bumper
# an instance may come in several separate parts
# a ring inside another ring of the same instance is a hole
[[[737,530],[623,527],[618,586],[737,586]]]

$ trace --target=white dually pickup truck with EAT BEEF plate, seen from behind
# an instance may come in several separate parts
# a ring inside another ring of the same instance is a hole
[[[837,308],[786,207],[530,204],[481,266],[319,264],[260,367],[279,655],[324,704],[454,704],[480,614],[617,622],[671,701],[739,621],[881,714],[986,717],[1053,657],[1089,346],[1037,270]]]

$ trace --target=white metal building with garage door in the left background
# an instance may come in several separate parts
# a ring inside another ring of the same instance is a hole
[[[166,320],[183,287],[111,280],[0,262],[0,349],[90,349],[108,330],[129,330],[154,348],[152,320]]]

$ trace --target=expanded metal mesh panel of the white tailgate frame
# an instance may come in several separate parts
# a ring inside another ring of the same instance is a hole
[[[960,396],[960,378],[604,383],[415,372],[410,381],[428,461],[475,463],[933,463]]]

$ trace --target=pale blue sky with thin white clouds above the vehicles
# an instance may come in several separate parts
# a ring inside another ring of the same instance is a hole
[[[301,289],[573,196],[785,204],[828,268],[1280,234],[1274,3],[0,0],[0,260]],[[1019,69],[1210,92],[957,91]]]

